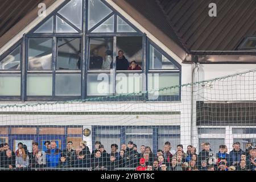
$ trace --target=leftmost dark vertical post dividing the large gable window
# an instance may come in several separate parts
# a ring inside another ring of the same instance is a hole
[[[22,50],[22,70],[21,70],[21,82],[20,82],[20,94],[21,94],[21,100],[22,102],[25,102],[25,94],[26,94],[26,34],[23,34],[22,37],[22,46],[20,46]]]

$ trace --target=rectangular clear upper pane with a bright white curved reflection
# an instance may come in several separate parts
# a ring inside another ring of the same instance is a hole
[[[52,69],[52,39],[30,38],[28,40],[28,69]]]

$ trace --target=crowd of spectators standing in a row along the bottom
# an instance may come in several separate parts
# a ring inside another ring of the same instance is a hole
[[[67,148],[61,151],[55,141],[44,143],[46,150],[39,150],[38,142],[32,143],[32,152],[27,146],[18,143],[18,150],[11,151],[9,144],[0,145],[1,169],[85,169],[85,170],[137,170],[137,171],[255,171],[256,148],[252,143],[246,144],[243,151],[239,142],[233,143],[233,150],[228,152],[225,145],[220,145],[214,154],[210,144],[201,143],[201,151],[196,147],[183,145],[172,148],[170,142],[164,143],[163,150],[156,154],[148,146],[140,146],[130,141],[118,145],[111,144],[110,154],[104,145],[96,141],[95,150],[90,152],[85,141],[73,148],[73,142],[67,143]]]

